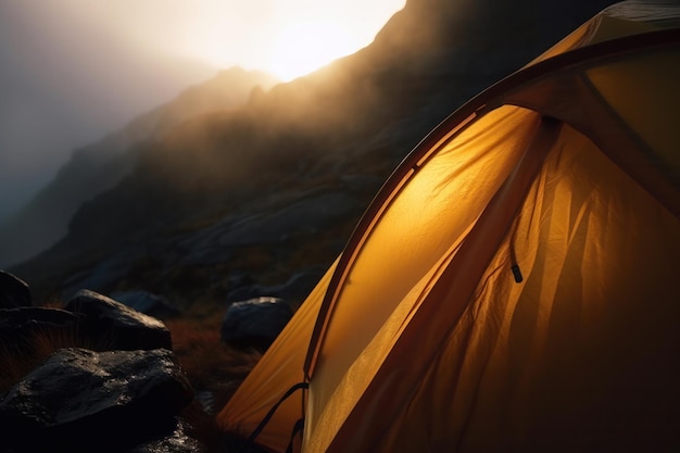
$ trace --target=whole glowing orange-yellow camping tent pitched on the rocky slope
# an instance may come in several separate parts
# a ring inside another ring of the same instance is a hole
[[[276,452],[299,419],[304,453],[680,450],[679,84],[680,5],[627,1],[454,112],[218,423]]]

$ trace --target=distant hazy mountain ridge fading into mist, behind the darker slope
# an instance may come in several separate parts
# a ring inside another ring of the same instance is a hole
[[[135,167],[139,148],[188,118],[234,109],[253,89],[276,80],[261,72],[235,67],[191,87],[176,99],[131,121],[102,140],[77,149],[56,177],[18,214],[0,226],[0,266],[17,263],[54,244],[83,204],[114,187]]]

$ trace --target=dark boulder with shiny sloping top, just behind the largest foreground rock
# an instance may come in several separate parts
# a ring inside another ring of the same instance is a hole
[[[92,338],[108,337],[110,350],[173,349],[162,322],[95,291],[78,291],[65,309],[86,315],[80,329]]]

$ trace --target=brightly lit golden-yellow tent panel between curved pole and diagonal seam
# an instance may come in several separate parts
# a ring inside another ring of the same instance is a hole
[[[336,404],[327,404],[324,397],[335,395],[344,408],[351,408],[351,402],[363,394],[365,388],[357,385],[354,374],[347,378],[352,385],[345,381],[339,386],[338,378],[344,374],[342,367],[349,368],[366,349],[360,340],[365,339],[367,343],[375,336],[375,329],[366,327],[364,330],[364,319],[376,319],[375,324],[381,326],[388,316],[391,317],[390,323],[398,330],[390,337],[391,340],[381,342],[393,343],[399,339],[399,328],[405,319],[396,318],[394,307],[386,310],[385,305],[388,302],[400,303],[408,293],[412,298],[418,297],[414,293],[414,284],[421,281],[423,285],[424,274],[431,272],[442,255],[458,249],[461,239],[469,232],[470,225],[520,159],[538,119],[539,116],[528,110],[515,106],[498,109],[462,133],[459,140],[433,155],[392,201],[355,259],[348,276],[350,284],[343,286],[332,313],[323,355],[311,380],[314,388],[307,414],[311,429],[307,431],[305,427],[305,433],[332,433],[326,425],[320,430],[314,428],[316,415],[323,416],[317,407],[324,407],[328,416],[337,421],[345,415]],[[514,127],[508,127],[509,124]],[[502,152],[498,155],[491,152],[499,148]],[[461,215],[455,215],[458,213]],[[400,246],[395,247],[398,243]],[[373,300],[380,301],[380,304],[365,303]],[[411,313],[405,310],[400,312]],[[360,332],[348,329],[348,324],[343,324],[345,319],[351,324],[352,319],[356,319],[354,316],[362,319]],[[429,344],[423,344],[423,348],[428,349]],[[365,360],[366,354],[362,356],[362,364]],[[369,379],[372,370],[375,372],[382,360],[383,356],[375,357],[372,367],[361,366],[357,374]],[[404,364],[410,368],[413,365],[407,361]],[[325,446],[318,451],[324,451]]]

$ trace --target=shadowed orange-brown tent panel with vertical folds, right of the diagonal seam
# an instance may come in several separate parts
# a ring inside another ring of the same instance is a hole
[[[305,451],[657,451],[676,437],[680,222],[575,130],[562,140],[471,299],[440,278],[446,297],[432,288],[393,319],[406,326],[353,411],[337,432],[322,418]]]

